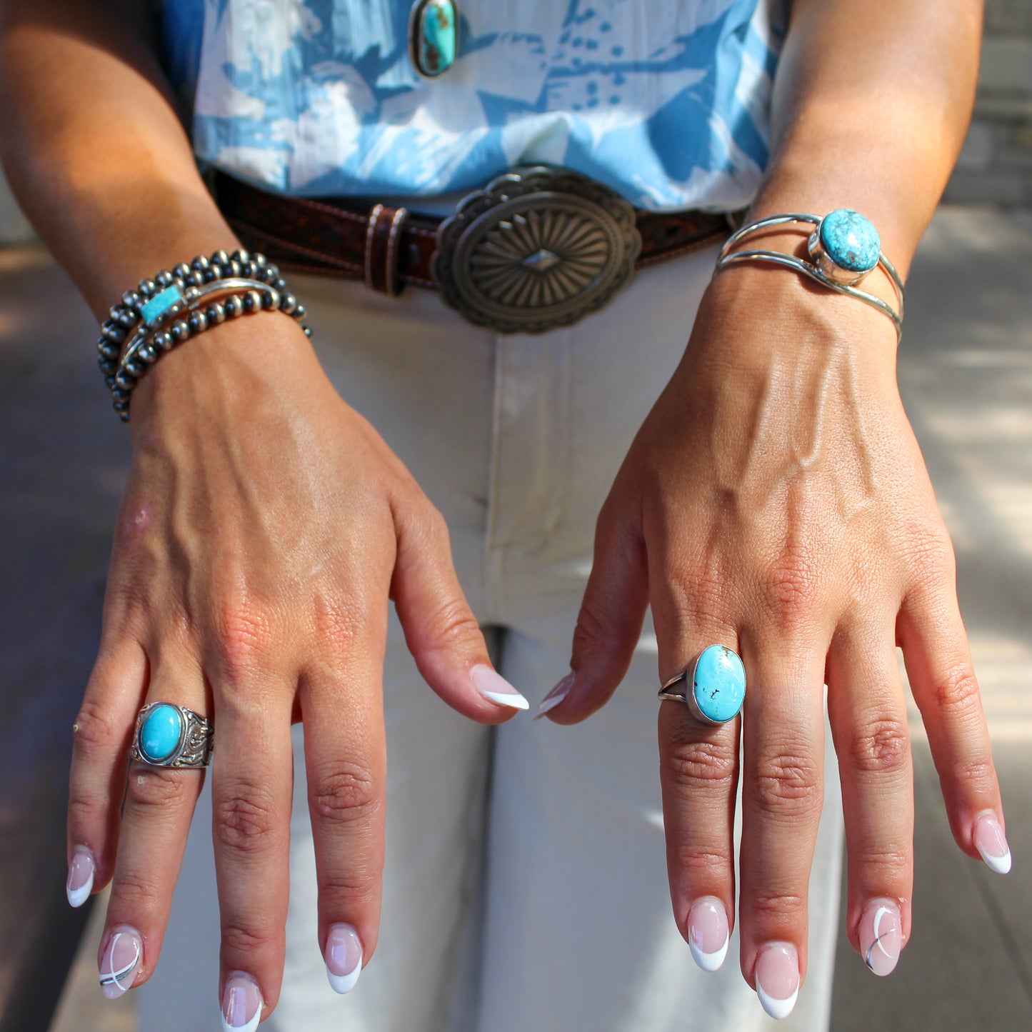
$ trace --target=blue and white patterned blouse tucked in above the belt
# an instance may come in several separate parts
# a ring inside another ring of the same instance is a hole
[[[272,190],[440,195],[545,162],[723,211],[767,162],[785,3],[459,0],[457,60],[425,79],[412,0],[164,0],[163,52],[198,158]]]

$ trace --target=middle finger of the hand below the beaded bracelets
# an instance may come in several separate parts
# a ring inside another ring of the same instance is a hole
[[[267,662],[253,659],[215,682],[212,834],[230,1028],[250,1028],[276,1006],[289,896],[293,691],[267,673]]]

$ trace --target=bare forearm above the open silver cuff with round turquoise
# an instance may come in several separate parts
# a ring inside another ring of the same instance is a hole
[[[751,216],[854,207],[905,273],[964,141],[980,0],[794,0]]]

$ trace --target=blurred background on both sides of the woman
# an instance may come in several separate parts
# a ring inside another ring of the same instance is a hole
[[[834,1032],[1032,1029],[1032,0],[988,0],[986,19],[899,376],[957,549],[1014,869],[994,875],[953,844],[914,711],[913,936],[888,979],[842,936]],[[0,180],[0,1032],[137,1029],[131,994],[97,988],[103,898],[73,911],[64,896],[70,729],[129,456],[95,336]]]

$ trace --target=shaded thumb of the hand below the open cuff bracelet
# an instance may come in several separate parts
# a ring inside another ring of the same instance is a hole
[[[611,495],[612,497],[612,495]],[[631,666],[648,606],[645,545],[637,524],[610,516],[594,533],[594,556],[574,628],[570,674],[542,700],[538,715],[577,723],[609,702]]]

